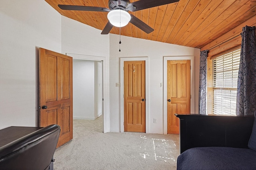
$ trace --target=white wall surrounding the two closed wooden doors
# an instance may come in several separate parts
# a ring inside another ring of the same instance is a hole
[[[195,67],[199,67],[200,49],[160,43],[156,41],[135,39],[121,36],[121,52],[119,52],[119,36],[110,35],[110,131],[120,131],[120,58],[148,57],[149,59],[149,131],[147,133],[163,133],[163,57],[195,56]],[[199,70],[195,69],[195,81],[199,78]],[[198,84],[195,84],[195,105],[198,106]],[[196,107],[196,113],[198,107]],[[153,118],[158,123],[153,123]]]

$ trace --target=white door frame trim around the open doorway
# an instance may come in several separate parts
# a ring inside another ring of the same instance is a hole
[[[90,61],[102,61],[102,131],[103,133],[110,132],[110,114],[109,114],[109,90],[107,84],[109,84],[109,76],[107,74],[107,67],[109,66],[106,57],[92,56],[92,55],[82,55],[66,53],[66,55],[73,57],[73,59],[82,59]]]

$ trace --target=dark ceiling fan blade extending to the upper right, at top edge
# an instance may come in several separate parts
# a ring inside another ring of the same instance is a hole
[[[128,10],[134,12],[155,6],[171,4],[178,1],[179,0],[138,0],[128,4]]]

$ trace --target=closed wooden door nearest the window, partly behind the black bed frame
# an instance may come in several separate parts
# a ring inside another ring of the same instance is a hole
[[[167,61],[167,133],[179,134],[179,119],[190,114],[190,60]]]

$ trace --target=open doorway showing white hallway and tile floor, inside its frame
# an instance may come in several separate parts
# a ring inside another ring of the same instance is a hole
[[[73,59],[74,136],[102,133],[102,61]]]

